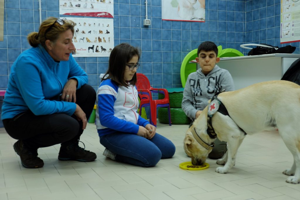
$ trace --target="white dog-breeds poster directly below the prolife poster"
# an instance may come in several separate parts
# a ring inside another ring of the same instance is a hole
[[[73,57],[109,57],[114,47],[113,19],[68,17],[75,22]]]

